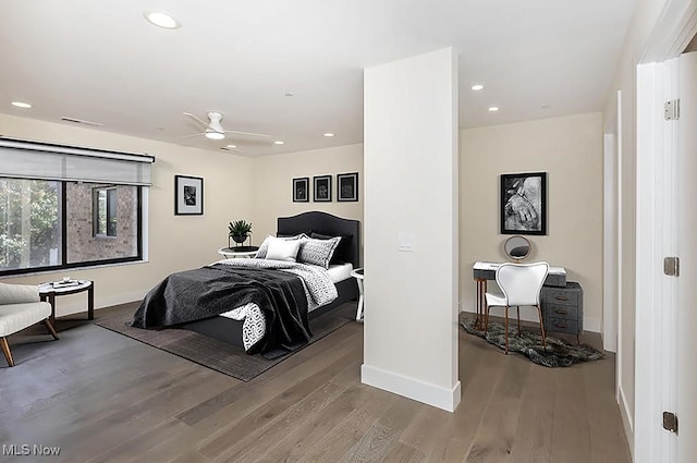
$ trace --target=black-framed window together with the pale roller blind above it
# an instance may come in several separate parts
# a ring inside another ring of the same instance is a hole
[[[0,277],[142,260],[152,162],[0,137]]]

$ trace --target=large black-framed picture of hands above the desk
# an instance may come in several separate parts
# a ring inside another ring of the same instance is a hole
[[[547,234],[547,172],[501,174],[501,234]]]

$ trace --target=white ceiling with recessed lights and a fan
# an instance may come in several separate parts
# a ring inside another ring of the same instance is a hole
[[[347,145],[363,141],[364,68],[450,46],[461,127],[600,111],[635,1],[2,0],[0,112],[245,156]],[[182,113],[209,110],[273,138],[182,138],[199,130]]]

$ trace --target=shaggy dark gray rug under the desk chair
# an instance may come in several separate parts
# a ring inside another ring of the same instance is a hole
[[[505,327],[503,324],[489,320],[489,329],[485,338],[482,330],[474,328],[475,319],[460,317],[460,325],[469,334],[486,339],[489,343],[505,350]],[[548,336],[547,352],[542,346],[542,336],[537,332],[523,330],[518,334],[515,318],[509,321],[509,352],[517,352],[538,365],[548,367],[571,366],[578,362],[589,362],[602,358],[604,354],[587,344],[574,344],[562,339]]]

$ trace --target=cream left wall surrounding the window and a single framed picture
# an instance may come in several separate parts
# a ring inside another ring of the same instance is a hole
[[[250,217],[252,159],[7,114],[0,114],[0,127],[9,137],[156,157],[149,188],[149,261],[9,277],[3,281],[36,284],[71,276],[95,281],[97,308],[138,301],[169,273],[219,259],[217,249],[228,243],[228,221]],[[204,178],[203,216],[174,216],[175,174]],[[59,316],[85,308],[84,294],[57,298]]]

